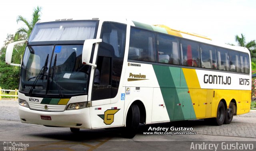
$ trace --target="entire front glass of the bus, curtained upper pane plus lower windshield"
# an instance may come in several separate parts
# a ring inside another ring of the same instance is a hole
[[[94,39],[97,22],[37,24],[28,40],[20,92],[28,96],[70,97],[87,93],[90,68],[82,64],[85,39]]]

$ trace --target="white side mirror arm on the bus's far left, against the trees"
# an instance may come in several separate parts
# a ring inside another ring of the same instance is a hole
[[[13,48],[15,45],[18,45],[18,44],[22,44],[22,43],[26,43],[27,40],[21,40],[21,41],[15,41],[13,43],[10,43],[8,46],[7,46],[7,49],[6,49],[6,54],[5,54],[5,63],[7,65],[14,65],[14,66],[18,66],[20,67],[21,64],[14,64],[14,63],[11,63],[12,61],[12,52],[13,52]]]

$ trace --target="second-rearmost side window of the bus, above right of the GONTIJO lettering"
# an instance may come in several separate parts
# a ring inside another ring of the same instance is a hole
[[[236,51],[229,51],[230,71],[240,72],[239,62],[239,53]]]

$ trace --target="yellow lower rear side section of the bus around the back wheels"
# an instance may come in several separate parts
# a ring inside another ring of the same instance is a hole
[[[250,90],[202,89],[195,69],[182,68],[196,114],[196,118],[216,117],[217,107],[223,101],[228,108],[230,102],[236,104],[236,114],[250,111]]]

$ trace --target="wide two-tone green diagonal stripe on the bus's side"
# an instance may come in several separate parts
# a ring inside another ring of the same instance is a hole
[[[170,120],[196,118],[181,68],[153,65]]]

